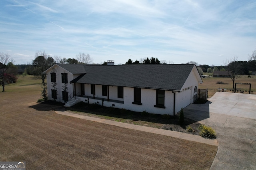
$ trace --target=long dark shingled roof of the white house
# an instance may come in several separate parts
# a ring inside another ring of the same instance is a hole
[[[78,66],[86,70],[85,74],[80,71],[82,75],[72,80],[72,83],[177,91],[181,90],[194,67],[194,64],[58,65],[73,74],[79,72]]]

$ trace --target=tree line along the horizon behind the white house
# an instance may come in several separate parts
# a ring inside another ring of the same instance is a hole
[[[232,80],[238,78],[238,75],[250,75],[252,71],[256,71],[256,49],[249,55],[248,61],[238,61],[238,57],[234,57],[226,62],[222,66],[209,66],[207,64],[198,64],[194,61],[189,61],[185,64],[195,64],[198,72],[200,74],[204,74],[206,72],[214,72],[214,71],[229,71],[232,72]],[[79,53],[75,58],[63,58],[60,56],[54,55],[51,57],[44,50],[35,52],[35,59],[32,61],[32,64],[26,65],[14,65],[13,58],[8,53],[0,52],[0,86],[3,88],[9,83],[16,82],[18,70],[22,69],[24,74],[30,74],[37,76],[42,79],[42,83],[46,78],[45,74],[42,74],[45,70],[50,68],[55,63],[61,64],[94,64],[92,57],[90,54]],[[106,61],[102,64],[107,64]],[[132,61],[132,59],[128,59],[125,64],[167,64],[167,61],[159,61],[158,58],[144,58],[136,61]],[[168,64],[173,64],[170,62]]]

